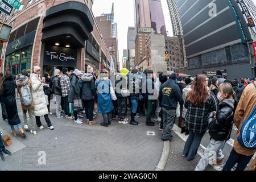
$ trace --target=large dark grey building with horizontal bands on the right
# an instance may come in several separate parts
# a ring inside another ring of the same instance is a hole
[[[221,70],[230,79],[254,77],[255,27],[248,26],[239,2],[217,0],[214,12],[210,0],[176,0],[188,59],[183,71],[192,76]],[[254,9],[251,1],[247,6]]]

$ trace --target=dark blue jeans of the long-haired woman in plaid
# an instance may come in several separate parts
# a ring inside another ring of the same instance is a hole
[[[183,155],[187,156],[188,160],[193,160],[195,158],[204,134],[205,132],[193,133],[193,131],[189,131],[189,136],[183,150]]]

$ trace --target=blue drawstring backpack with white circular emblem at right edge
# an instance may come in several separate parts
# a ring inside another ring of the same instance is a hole
[[[256,107],[246,121],[243,122],[238,142],[242,147],[256,149]]]

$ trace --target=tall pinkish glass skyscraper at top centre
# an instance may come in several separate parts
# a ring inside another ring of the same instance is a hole
[[[166,36],[166,24],[160,0],[135,0],[137,32],[139,28],[153,28],[158,34]]]

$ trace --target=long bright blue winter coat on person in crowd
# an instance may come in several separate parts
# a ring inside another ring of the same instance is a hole
[[[112,86],[109,79],[96,81],[96,90],[98,91],[98,113],[108,114],[114,109],[109,86]]]

